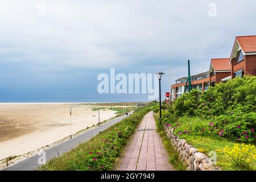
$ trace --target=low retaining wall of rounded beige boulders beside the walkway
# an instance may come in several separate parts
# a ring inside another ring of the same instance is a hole
[[[189,171],[218,171],[220,168],[210,164],[207,155],[197,151],[196,148],[187,144],[186,140],[179,139],[179,136],[174,135],[171,127],[164,127],[167,136],[170,138],[172,146],[179,152],[181,161]]]

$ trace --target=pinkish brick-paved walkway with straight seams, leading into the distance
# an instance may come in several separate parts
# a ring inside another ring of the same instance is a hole
[[[152,111],[147,113],[127,145],[119,171],[172,171]]]

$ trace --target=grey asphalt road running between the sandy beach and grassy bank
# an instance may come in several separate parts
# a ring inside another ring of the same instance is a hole
[[[130,112],[131,114],[133,112]],[[54,147],[48,148],[47,150],[44,150],[46,152],[46,161],[49,161],[53,158],[56,158],[58,156],[61,156],[65,154],[66,152],[71,151],[73,148],[79,146],[80,143],[84,143],[87,140],[95,137],[97,134],[100,132],[108,129],[110,126],[113,126],[115,123],[118,123],[122,121],[122,119],[126,118],[126,115],[122,115],[121,117],[113,119],[113,121],[107,122],[102,124],[101,126],[98,126],[92,130],[86,131],[85,133],[69,139],[63,143],[60,143]],[[39,164],[38,160],[42,155],[35,154],[31,156],[30,158],[24,159],[13,166],[7,167],[3,169],[3,171],[33,171],[40,167],[41,165]]]

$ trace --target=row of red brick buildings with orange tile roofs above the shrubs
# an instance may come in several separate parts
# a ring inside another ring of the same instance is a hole
[[[192,88],[203,92],[218,82],[243,75],[256,76],[256,35],[237,36],[230,58],[210,60],[208,72],[191,76]],[[172,100],[180,97],[184,91],[187,92],[184,90],[186,80],[187,77],[181,77],[176,80],[176,84],[171,85]]]

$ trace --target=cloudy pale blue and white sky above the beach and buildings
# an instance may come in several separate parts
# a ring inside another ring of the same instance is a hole
[[[255,35],[255,7],[253,0],[0,0],[0,102],[148,101],[142,93],[100,94],[97,76],[162,71],[164,94],[187,76],[188,59],[191,74],[208,71],[210,59],[230,56],[236,36]]]

